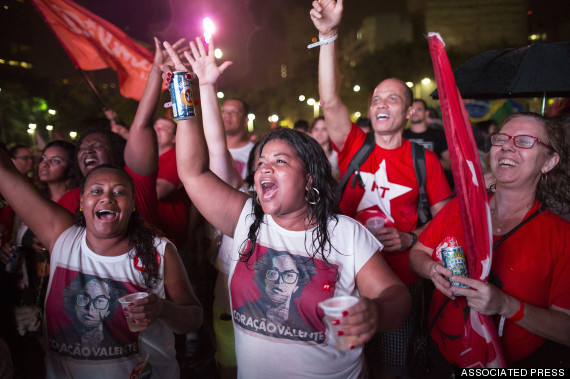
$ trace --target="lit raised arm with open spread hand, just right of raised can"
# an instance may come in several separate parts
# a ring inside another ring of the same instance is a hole
[[[190,47],[192,54],[186,52],[184,55],[200,83],[202,120],[210,156],[210,170],[224,182],[238,188],[242,180],[228,150],[226,131],[216,95],[216,83],[232,62],[224,62],[219,67],[216,65],[212,40],[209,43],[208,52],[200,37],[196,38],[196,44],[191,43]]]

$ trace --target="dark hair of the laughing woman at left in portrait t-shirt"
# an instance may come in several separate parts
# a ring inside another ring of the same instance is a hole
[[[124,179],[126,179],[129,182],[131,195],[133,196],[133,199],[135,198],[135,184],[131,176],[123,168],[108,164],[100,165],[94,168],[93,170],[89,171],[89,173],[81,183],[81,196],[83,196],[83,191],[85,190],[85,183],[87,183],[91,175],[101,170],[114,171],[120,174]],[[83,212],[80,212],[79,210],[76,213],[75,224],[80,227],[84,228],[86,227],[85,217],[83,215]],[[158,280],[160,280],[160,277],[158,274],[159,262],[157,261],[156,258],[156,247],[154,245],[154,238],[161,237],[161,233],[147,226],[144,223],[140,213],[137,210],[135,210],[133,213],[131,213],[126,234],[129,241],[129,247],[133,250],[133,252],[130,253],[131,254],[130,258],[134,259],[135,256],[137,256],[140,259],[145,269],[142,272],[142,276],[146,287],[147,288],[156,287]]]

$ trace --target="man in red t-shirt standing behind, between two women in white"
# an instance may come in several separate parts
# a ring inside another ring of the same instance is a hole
[[[176,124],[167,118],[154,123],[158,141],[158,227],[180,250],[186,239],[190,198],[176,169]]]

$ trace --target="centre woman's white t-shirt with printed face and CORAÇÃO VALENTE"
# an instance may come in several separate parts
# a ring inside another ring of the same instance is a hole
[[[234,234],[229,280],[239,376],[358,377],[362,348],[340,351],[329,345],[318,303],[358,296],[356,275],[382,245],[361,224],[339,215],[338,223],[329,221],[334,248],[325,260],[311,246],[316,228],[286,230],[266,215],[246,264],[239,254],[248,244],[251,213],[248,200]]]

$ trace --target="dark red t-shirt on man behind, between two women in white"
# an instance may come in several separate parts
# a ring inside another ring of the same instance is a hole
[[[158,227],[174,245],[181,247],[187,235],[190,198],[178,177],[174,147],[158,157],[158,178],[178,187],[158,202]]]

